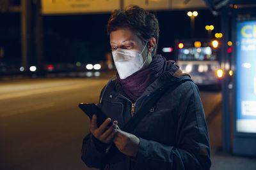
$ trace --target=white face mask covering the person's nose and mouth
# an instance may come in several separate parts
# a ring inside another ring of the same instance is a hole
[[[115,66],[121,79],[131,76],[131,74],[139,71],[144,66],[148,55],[143,62],[143,57],[141,54],[145,50],[146,46],[147,43],[141,53],[136,50],[126,50],[122,48],[117,48],[112,52]]]

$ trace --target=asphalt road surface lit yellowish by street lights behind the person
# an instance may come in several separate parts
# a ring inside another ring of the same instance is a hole
[[[109,76],[110,77],[110,76]],[[0,169],[90,169],[80,158],[88,133],[77,104],[97,103],[108,78],[46,78],[0,82]],[[201,91],[210,123],[220,92]],[[221,121],[220,121],[221,122]],[[220,123],[219,122],[219,123]],[[217,122],[218,123],[218,122]],[[221,145],[221,126],[209,128]]]

